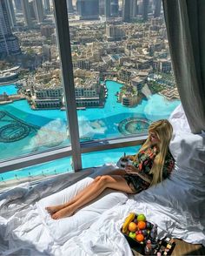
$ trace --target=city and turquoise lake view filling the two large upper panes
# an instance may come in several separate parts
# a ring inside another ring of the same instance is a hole
[[[66,3],[81,141],[169,118],[180,98],[162,0]],[[54,4],[0,0],[1,160],[70,145],[68,127]]]

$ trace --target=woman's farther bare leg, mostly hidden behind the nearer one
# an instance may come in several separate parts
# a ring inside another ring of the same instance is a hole
[[[126,172],[125,172],[124,170],[122,170],[122,169],[116,169],[116,170],[113,170],[113,171],[111,171],[111,172],[108,172],[107,175],[124,175],[125,173],[126,173]],[[99,176],[99,177],[100,177],[100,176]],[[96,181],[96,179],[94,179],[93,182],[95,182],[95,181]],[[92,183],[89,184],[89,185],[86,187],[86,189],[89,190],[89,186],[92,186]],[[74,199],[69,200],[69,202],[67,202],[67,203],[65,203],[65,204],[63,204],[63,205],[48,206],[48,207],[46,207],[45,209],[46,209],[50,214],[53,214],[53,213],[58,212],[58,211],[60,211],[61,209],[65,208],[65,207],[67,207],[67,206],[69,206],[69,205],[74,204],[78,199],[80,199],[80,198],[83,196],[83,194],[84,194],[84,189],[83,189],[81,192],[79,192],[79,193],[76,195],[76,197],[75,197]]]

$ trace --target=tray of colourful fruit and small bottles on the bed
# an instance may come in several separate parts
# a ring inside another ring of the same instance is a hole
[[[124,220],[121,232],[129,246],[142,255],[171,255],[175,248],[174,239],[157,239],[157,225],[149,222],[142,213],[130,212]]]

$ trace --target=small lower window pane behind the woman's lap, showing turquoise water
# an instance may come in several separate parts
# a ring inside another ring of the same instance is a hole
[[[97,167],[105,164],[115,165],[119,158],[124,155],[124,153],[126,155],[134,155],[139,148],[140,146],[130,146],[102,152],[84,153],[82,155],[83,168]]]

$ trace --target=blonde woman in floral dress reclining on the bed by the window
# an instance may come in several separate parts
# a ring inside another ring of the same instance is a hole
[[[172,125],[166,119],[149,125],[149,137],[140,151],[135,156],[126,157],[133,161],[132,165],[126,166],[125,170],[116,169],[109,175],[96,177],[68,203],[46,207],[52,219],[73,215],[80,207],[96,199],[106,188],[138,193],[168,178],[175,165],[175,160],[169,152],[172,131]]]

